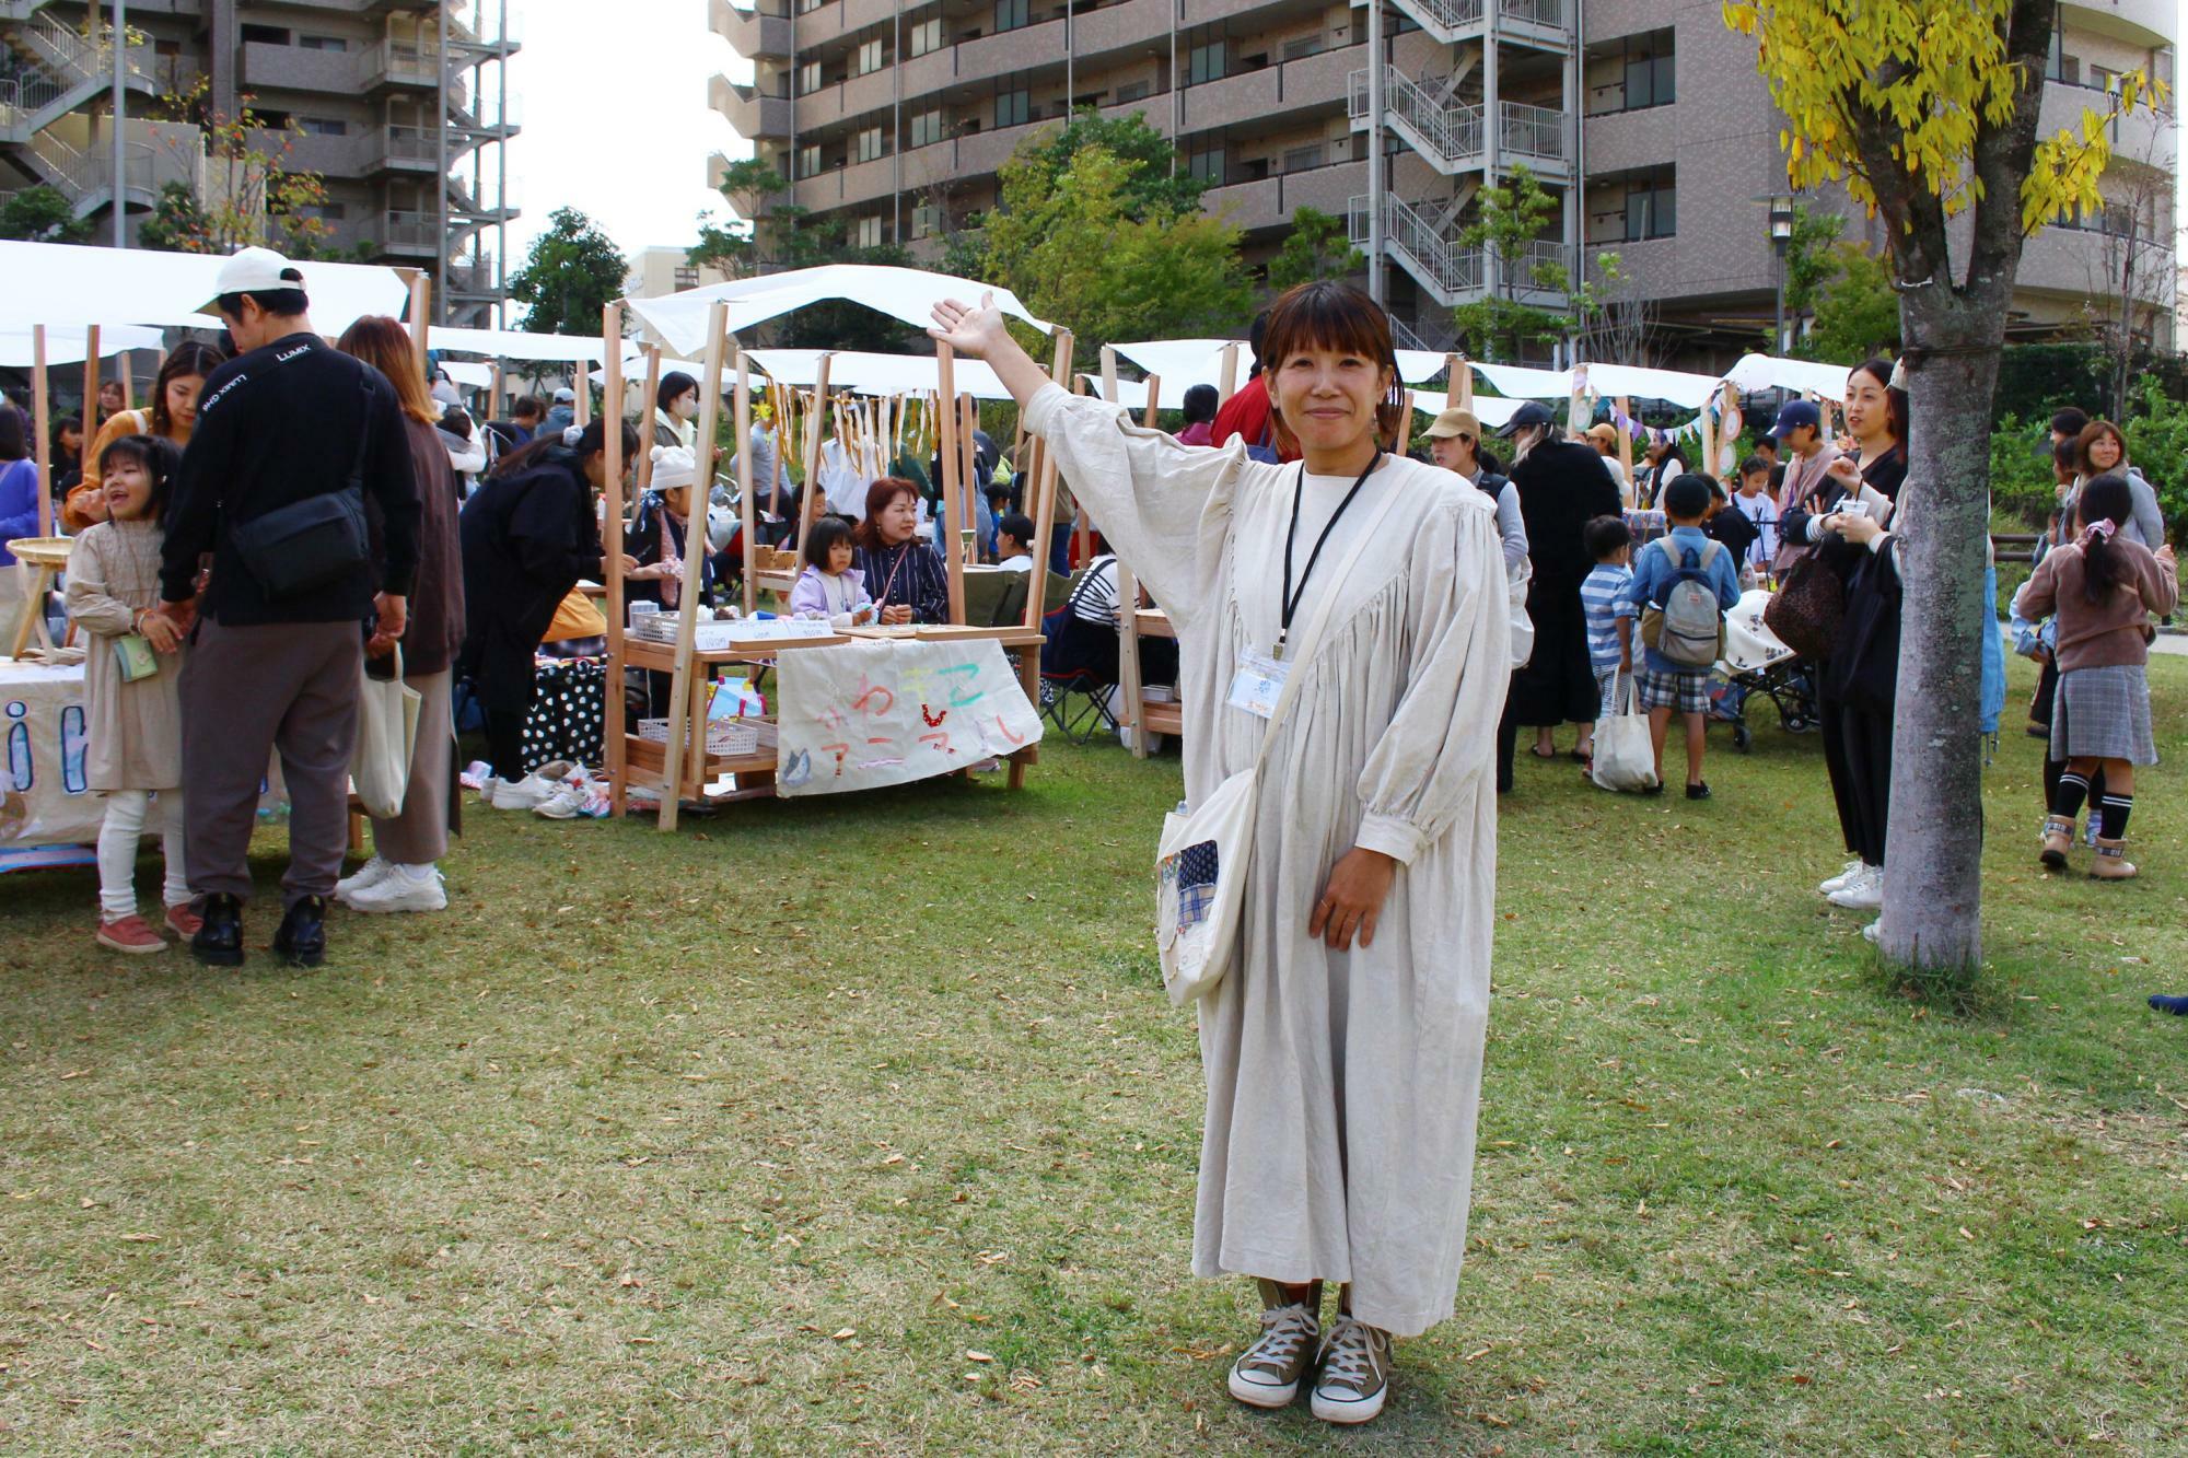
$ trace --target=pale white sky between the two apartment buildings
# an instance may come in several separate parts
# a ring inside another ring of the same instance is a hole
[[[626,254],[694,243],[698,215],[722,210],[707,158],[740,151],[707,107],[707,81],[750,74],[707,28],[707,0],[510,0],[510,13],[523,39],[510,63],[523,120],[510,142],[523,206],[512,265],[558,206],[595,219]]]

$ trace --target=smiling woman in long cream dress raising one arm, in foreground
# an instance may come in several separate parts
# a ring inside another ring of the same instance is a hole
[[[1265,379],[1295,464],[1070,396],[989,302],[934,320],[993,366],[1168,609],[1190,803],[1258,764],[1243,884],[1221,865],[1179,876],[1208,900],[1243,891],[1199,1005],[1192,1270],[1260,1289],[1232,1397],[1280,1408],[1304,1386],[1315,1416],[1363,1423],[1392,1338],[1451,1316],[1466,1246],[1512,676],[1497,508],[1394,451],[1409,405],[1389,317],[1348,285],[1300,285],[1269,313]]]

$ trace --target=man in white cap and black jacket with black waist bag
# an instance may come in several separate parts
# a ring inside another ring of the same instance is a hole
[[[267,755],[280,751],[289,873],[274,950],[315,968],[348,841],[365,630],[403,637],[418,486],[394,385],[319,339],[295,265],[243,250],[221,267],[214,306],[236,357],[199,396],[160,569],[160,611],[197,628],[182,670],[184,856],[190,891],[206,898],[190,950],[210,965],[243,961],[245,854]],[[376,556],[326,528],[339,501],[324,497],[350,490],[376,508]],[[304,530],[267,543],[291,523]],[[322,567],[315,580],[278,580],[300,558]]]

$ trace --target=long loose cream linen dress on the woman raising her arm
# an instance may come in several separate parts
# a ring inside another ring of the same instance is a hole
[[[1227,703],[1276,641],[1297,464],[1182,447],[1048,385],[1026,429],[1177,626],[1186,795],[1260,751]],[[1352,477],[1304,477],[1293,585]],[[1357,534],[1405,493],[1359,567]],[[1199,1005],[1208,1125],[1192,1270],[1350,1281],[1396,1335],[1451,1316],[1473,1191],[1497,893],[1494,731],[1510,606],[1494,504],[1385,458],[1337,519],[1293,630],[1335,595],[1262,771],[1243,948]],[[1302,644],[1293,644],[1297,652]],[[1306,935],[1354,845],[1400,860],[1374,946]]]

